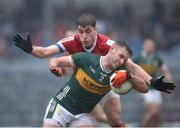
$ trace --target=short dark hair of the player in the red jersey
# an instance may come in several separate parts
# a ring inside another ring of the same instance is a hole
[[[92,14],[83,14],[77,19],[76,25],[80,25],[82,27],[90,25],[92,27],[96,27],[96,18]]]

